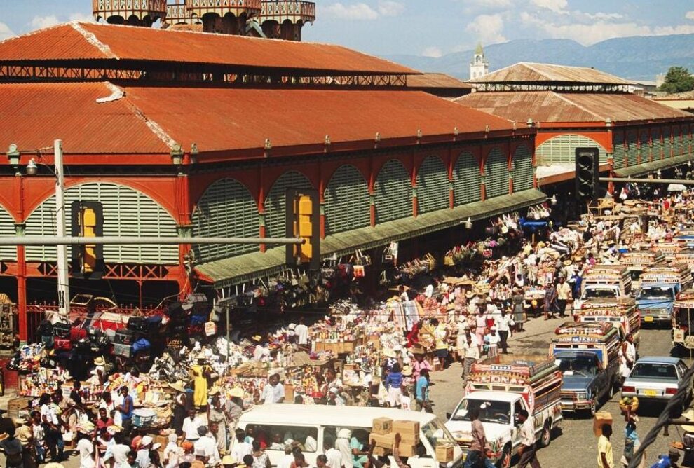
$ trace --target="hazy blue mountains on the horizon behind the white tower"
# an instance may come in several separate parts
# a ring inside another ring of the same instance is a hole
[[[421,71],[440,71],[458,78],[470,78],[473,50],[443,57],[390,55],[386,58]],[[694,34],[634,36],[608,39],[590,47],[569,39],[522,39],[484,46],[489,69],[498,70],[517,62],[544,62],[578,67],[594,67],[633,80],[654,81],[669,67],[687,67],[694,72]]]

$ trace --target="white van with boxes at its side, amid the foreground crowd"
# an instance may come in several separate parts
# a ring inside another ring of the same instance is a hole
[[[244,411],[238,420],[238,428],[247,431],[252,428],[256,439],[266,441],[266,453],[270,457],[273,467],[276,467],[280,459],[285,455],[285,441],[299,441],[306,463],[315,467],[315,458],[323,450],[323,441],[334,441],[339,429],[351,429],[352,437],[357,437],[360,442],[369,443],[374,418],[390,418],[393,420],[407,420],[419,422],[420,446],[418,453],[409,457],[407,464],[412,468],[459,468],[463,464],[463,452],[454,441],[451,433],[443,423],[433,414],[419,411],[406,411],[390,408],[371,408],[363,406],[323,406],[323,405],[296,405],[296,404],[266,404],[254,406]],[[232,439],[231,448],[236,446],[236,439]],[[308,443],[307,443],[308,442]],[[435,457],[435,448],[441,443],[454,445],[454,461],[439,464]],[[395,461],[391,460],[391,466]]]

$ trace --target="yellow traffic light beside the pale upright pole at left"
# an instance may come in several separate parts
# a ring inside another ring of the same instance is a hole
[[[72,202],[72,235],[95,238],[104,235],[104,209],[100,202]],[[104,247],[88,244],[72,247],[72,277],[98,280],[104,275]]]

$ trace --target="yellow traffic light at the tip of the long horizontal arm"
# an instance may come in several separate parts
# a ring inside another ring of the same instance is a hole
[[[287,238],[301,238],[301,245],[287,245],[287,265],[320,268],[320,200],[318,191],[287,189],[285,195]]]

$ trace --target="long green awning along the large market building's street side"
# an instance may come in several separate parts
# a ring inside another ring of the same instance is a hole
[[[420,214],[416,218],[397,219],[375,227],[360,228],[344,233],[329,235],[321,240],[320,254],[323,257],[336,254],[353,254],[356,249],[372,249],[433,233],[437,230],[458,226],[468,218],[472,221],[487,219],[512,212],[516,209],[537,205],[547,200],[547,195],[538,190],[526,190],[512,195],[489,198],[484,202],[469,203],[454,209],[440,209]],[[259,277],[271,276],[285,269],[285,248],[268,249],[201,263],[196,270],[214,283],[215,288],[233,286]]]

